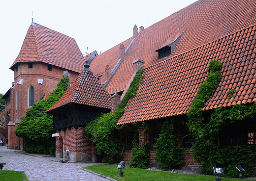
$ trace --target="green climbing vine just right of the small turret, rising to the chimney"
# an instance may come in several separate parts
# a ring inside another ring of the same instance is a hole
[[[103,161],[118,161],[122,155],[123,144],[119,136],[117,136],[117,130],[122,129],[124,126],[117,126],[117,121],[124,114],[125,107],[129,105],[129,102],[136,95],[139,85],[143,83],[143,71],[143,68],[138,70],[124,99],[113,114],[110,112],[97,116],[84,129],[87,138],[96,143],[97,154],[104,156]]]

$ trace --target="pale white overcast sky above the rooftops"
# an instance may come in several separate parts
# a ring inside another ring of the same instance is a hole
[[[194,1],[0,0],[0,93],[5,94],[14,81],[9,68],[32,18],[74,38],[82,53],[96,50],[99,54],[130,38],[134,25],[147,28]]]

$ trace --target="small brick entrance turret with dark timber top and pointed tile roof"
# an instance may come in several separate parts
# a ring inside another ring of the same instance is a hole
[[[53,114],[56,138],[56,156],[71,161],[96,162],[96,150],[92,141],[85,138],[83,129],[99,113],[111,110],[108,92],[91,72],[90,65],[66,90],[62,98],[46,112]]]

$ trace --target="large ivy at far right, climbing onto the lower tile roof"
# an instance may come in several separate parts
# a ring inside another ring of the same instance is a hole
[[[246,163],[247,171],[244,176],[251,176],[253,163],[256,161],[255,146],[222,146],[219,134],[225,127],[237,121],[253,118],[256,115],[256,103],[251,105],[234,105],[232,107],[218,107],[210,116],[203,114],[202,108],[206,101],[214,93],[221,81],[220,62],[212,60],[208,70],[208,78],[202,83],[198,90],[191,109],[188,112],[188,126],[192,133],[196,134],[195,144],[192,147],[193,157],[202,163],[202,173],[212,174],[216,163],[225,164],[225,176],[237,177],[235,168],[239,163]],[[230,100],[235,93],[231,89],[227,97]],[[248,149],[253,152],[253,156],[248,155]]]

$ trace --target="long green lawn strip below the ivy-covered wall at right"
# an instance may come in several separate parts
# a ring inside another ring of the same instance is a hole
[[[94,165],[84,167],[86,170],[110,177],[118,181],[215,181],[216,177],[176,174],[170,172],[150,171],[126,167],[123,169],[124,177],[119,177],[120,170],[113,165]],[[222,178],[222,181],[235,181]]]

